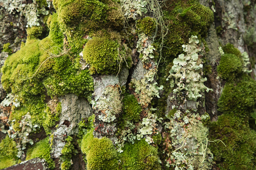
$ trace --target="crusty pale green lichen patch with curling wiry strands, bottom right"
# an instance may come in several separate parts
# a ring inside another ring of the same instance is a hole
[[[210,169],[213,154],[207,145],[212,141],[207,138],[208,129],[201,122],[203,117],[195,114],[180,117],[177,113],[165,125],[165,128],[171,130],[170,137],[175,148],[170,155],[174,161],[166,160],[166,166],[174,166],[175,170]],[[177,118],[180,121],[175,121]]]

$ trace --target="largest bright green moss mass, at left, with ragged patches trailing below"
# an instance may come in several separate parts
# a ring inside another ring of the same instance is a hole
[[[79,60],[74,60],[73,54],[58,52],[68,47],[63,47],[64,36],[57,18],[58,15],[53,14],[48,19],[49,36],[27,41],[24,47],[8,57],[1,69],[4,89],[12,92],[21,105],[19,108],[13,106],[10,115],[15,131],[21,130],[19,121],[29,112],[31,123],[43,126],[46,133],[51,132],[50,128],[58,121],[61,105],[59,103],[56,110],[51,111],[45,103],[46,93],[51,97],[67,93],[88,97],[93,90],[89,70],[78,68]],[[56,55],[59,56],[52,57]]]

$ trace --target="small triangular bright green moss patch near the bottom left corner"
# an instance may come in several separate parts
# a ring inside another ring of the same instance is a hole
[[[55,163],[51,158],[51,147],[49,144],[49,137],[46,137],[44,140],[37,142],[34,147],[27,150],[26,160],[33,158],[42,158],[48,163],[50,169],[55,168]]]

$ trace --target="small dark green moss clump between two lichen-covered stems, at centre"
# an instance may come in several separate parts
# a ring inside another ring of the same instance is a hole
[[[142,109],[134,95],[126,95],[123,98],[123,118],[138,122]]]

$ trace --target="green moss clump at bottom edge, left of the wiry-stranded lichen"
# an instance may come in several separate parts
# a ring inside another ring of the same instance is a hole
[[[126,143],[120,155],[121,170],[160,170],[157,149],[145,140]]]

